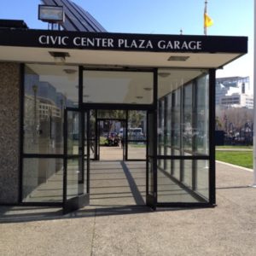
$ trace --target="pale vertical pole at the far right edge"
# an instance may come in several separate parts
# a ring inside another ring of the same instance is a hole
[[[254,1],[253,1],[254,2]],[[253,188],[256,188],[256,3],[254,4],[254,60],[253,60]]]

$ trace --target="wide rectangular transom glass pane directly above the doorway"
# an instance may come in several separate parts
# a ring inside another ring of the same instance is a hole
[[[84,71],[84,103],[151,104],[154,73]]]

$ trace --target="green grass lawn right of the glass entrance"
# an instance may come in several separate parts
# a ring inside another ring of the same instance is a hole
[[[216,151],[216,160],[253,169],[252,151]]]

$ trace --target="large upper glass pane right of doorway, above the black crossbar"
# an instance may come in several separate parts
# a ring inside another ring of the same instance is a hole
[[[204,70],[160,69],[158,73],[158,154],[208,154],[208,75]],[[200,78],[199,78],[200,77]],[[199,79],[198,79],[199,78]],[[191,82],[193,81],[193,82]],[[190,82],[190,84],[188,84]],[[186,85],[184,85],[186,84]],[[197,146],[198,144],[198,146]],[[197,149],[198,147],[198,149]],[[181,150],[177,152],[177,150]]]

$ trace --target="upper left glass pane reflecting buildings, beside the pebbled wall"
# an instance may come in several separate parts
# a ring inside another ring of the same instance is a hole
[[[63,154],[63,109],[78,105],[78,67],[27,64],[24,153]]]

